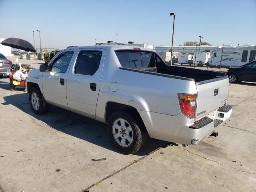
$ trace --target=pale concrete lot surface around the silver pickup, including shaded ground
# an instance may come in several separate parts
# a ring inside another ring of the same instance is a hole
[[[39,68],[40,61],[20,62]],[[57,107],[33,114],[28,94],[0,77],[0,191],[254,192],[256,83],[230,84],[228,104],[232,116],[217,138],[188,147],[150,139],[123,155],[105,124]]]

